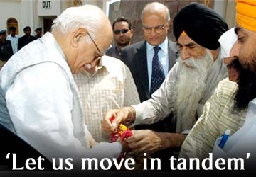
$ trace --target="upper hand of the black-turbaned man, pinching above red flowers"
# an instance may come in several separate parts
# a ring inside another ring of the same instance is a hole
[[[110,122],[110,118],[114,117],[113,122]],[[117,130],[117,127],[120,123],[127,125],[133,122],[135,119],[135,110],[134,108],[124,107],[119,110],[109,110],[105,115],[105,118],[102,120],[102,130],[105,132],[114,132]]]

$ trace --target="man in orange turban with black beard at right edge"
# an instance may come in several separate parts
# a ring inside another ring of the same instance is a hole
[[[243,158],[248,169],[256,161],[256,1],[236,2],[238,40],[230,57],[238,81],[220,82],[183,142],[180,157],[204,159],[213,152],[214,158]],[[228,139],[222,136],[225,132]]]

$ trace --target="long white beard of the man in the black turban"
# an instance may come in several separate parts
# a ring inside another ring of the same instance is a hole
[[[177,118],[177,132],[191,129],[196,120],[196,109],[206,89],[208,69],[213,64],[213,56],[210,50],[206,50],[206,56],[193,57],[181,60],[176,92],[176,107],[174,113]]]

